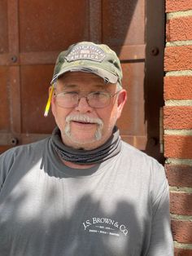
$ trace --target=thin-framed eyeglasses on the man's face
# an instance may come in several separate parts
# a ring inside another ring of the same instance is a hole
[[[111,94],[107,91],[93,91],[90,93],[85,91],[81,91],[81,93],[76,91],[63,91],[54,95],[54,97],[56,98],[56,103],[62,108],[75,108],[78,106],[81,98],[85,98],[91,108],[105,108],[110,104],[111,98],[119,92],[120,90],[115,94]]]

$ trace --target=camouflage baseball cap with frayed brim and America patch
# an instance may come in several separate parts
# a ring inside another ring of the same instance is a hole
[[[53,84],[63,73],[69,71],[94,73],[103,77],[105,82],[119,82],[122,86],[120,60],[116,52],[104,44],[77,42],[69,46],[67,51],[62,51],[56,61],[54,76],[50,83]]]

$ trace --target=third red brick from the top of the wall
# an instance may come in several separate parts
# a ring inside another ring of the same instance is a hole
[[[165,48],[165,71],[185,70],[192,68],[192,46],[170,46]]]

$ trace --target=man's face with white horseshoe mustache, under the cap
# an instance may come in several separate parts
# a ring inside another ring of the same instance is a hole
[[[52,99],[52,113],[61,131],[63,143],[72,148],[90,150],[98,148],[109,139],[116,120],[126,100],[126,91],[111,97],[110,104],[105,108],[90,107],[84,95],[94,91],[116,93],[114,84],[106,84],[103,78],[93,73],[69,72],[59,78],[56,95],[60,92],[77,92],[83,94],[79,104],[73,108],[60,106],[57,97]]]

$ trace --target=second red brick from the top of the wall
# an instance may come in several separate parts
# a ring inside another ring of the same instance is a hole
[[[185,41],[192,39],[192,17],[180,17],[168,20],[166,25],[167,41]]]

